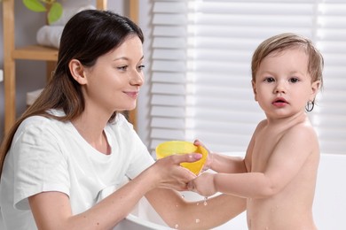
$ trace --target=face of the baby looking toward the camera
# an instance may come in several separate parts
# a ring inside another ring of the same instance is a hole
[[[308,55],[299,48],[274,51],[263,58],[252,82],[255,99],[267,117],[285,118],[314,100],[319,80],[311,82]]]

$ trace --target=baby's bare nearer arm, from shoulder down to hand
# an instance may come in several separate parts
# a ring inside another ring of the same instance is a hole
[[[284,134],[271,153],[263,172],[201,174],[190,188],[202,196],[222,192],[234,196],[263,198],[279,193],[299,173],[318,148],[309,126],[297,126]]]

